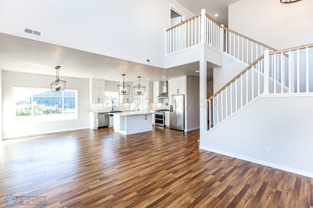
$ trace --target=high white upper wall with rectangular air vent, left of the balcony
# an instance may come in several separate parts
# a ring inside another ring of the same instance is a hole
[[[0,32],[110,57],[164,66],[164,32],[176,0],[1,0]],[[23,27],[43,38],[23,34]]]

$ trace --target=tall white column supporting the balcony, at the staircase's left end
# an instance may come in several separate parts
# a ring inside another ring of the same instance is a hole
[[[207,103],[206,103],[206,59],[204,54],[204,48],[201,49],[200,55],[200,139],[203,138],[203,134],[207,128]],[[200,140],[201,143],[201,140]],[[201,145],[201,144],[200,144]]]

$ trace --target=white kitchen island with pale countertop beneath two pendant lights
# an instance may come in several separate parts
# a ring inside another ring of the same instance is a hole
[[[152,131],[152,113],[131,111],[113,114],[114,132],[125,135]]]

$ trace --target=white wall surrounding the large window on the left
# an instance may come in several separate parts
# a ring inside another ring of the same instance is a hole
[[[12,86],[49,88],[55,76],[2,71],[3,138],[89,128],[89,79],[62,77],[66,88],[78,90],[78,119],[69,121],[21,121],[15,119]]]

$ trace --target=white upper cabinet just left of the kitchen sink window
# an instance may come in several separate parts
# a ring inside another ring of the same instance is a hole
[[[90,86],[90,103],[103,103],[104,102],[104,79],[89,79]]]

